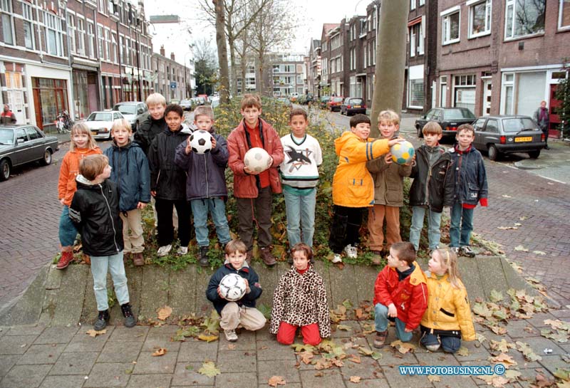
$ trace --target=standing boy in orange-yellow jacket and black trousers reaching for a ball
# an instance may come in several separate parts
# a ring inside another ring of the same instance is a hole
[[[375,140],[370,135],[370,118],[351,117],[351,132],[343,132],[334,141],[338,166],[333,177],[334,216],[328,245],[335,253],[333,263],[340,263],[341,252],[356,258],[358,230],[363,210],[374,204],[374,182],[366,169],[366,162],[387,154],[390,147],[403,140]]]

